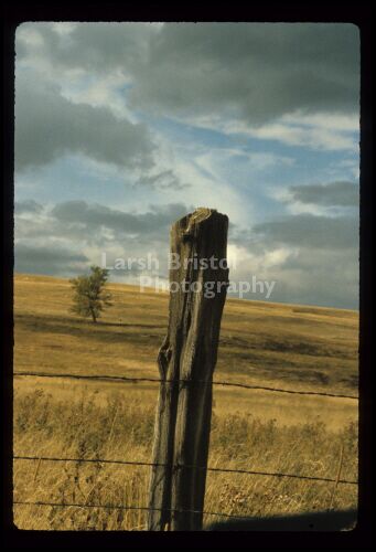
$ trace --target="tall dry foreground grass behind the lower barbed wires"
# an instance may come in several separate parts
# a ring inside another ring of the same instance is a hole
[[[132,393],[83,393],[68,401],[42,390],[18,391],[14,399],[14,454],[151,460],[154,405]],[[330,431],[319,417],[281,425],[246,414],[214,411],[210,466],[357,478],[357,427]],[[14,506],[22,529],[142,530],[146,510],[106,505],[148,505],[149,469],[100,463],[14,461],[14,500],[101,505],[104,508]],[[205,510],[270,516],[356,507],[356,486],[302,479],[207,474]],[[332,503],[333,502],[333,503]],[[205,517],[205,523],[215,520]]]

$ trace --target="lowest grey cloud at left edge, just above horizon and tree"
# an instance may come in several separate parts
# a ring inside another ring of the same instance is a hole
[[[65,248],[24,243],[14,248],[14,269],[19,273],[65,276],[85,269],[87,263],[85,255]]]

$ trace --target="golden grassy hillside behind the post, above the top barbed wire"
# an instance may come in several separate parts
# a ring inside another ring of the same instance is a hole
[[[166,328],[165,294],[111,285],[115,307],[97,326],[68,312],[67,280],[15,277],[15,367],[155,374]],[[357,384],[358,316],[339,310],[228,299],[216,373],[350,391]]]

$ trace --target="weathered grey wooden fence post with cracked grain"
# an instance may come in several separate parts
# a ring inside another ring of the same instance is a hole
[[[228,286],[227,227],[226,215],[200,208],[171,229],[169,327],[158,355],[162,382],[149,530],[202,529],[212,376]]]

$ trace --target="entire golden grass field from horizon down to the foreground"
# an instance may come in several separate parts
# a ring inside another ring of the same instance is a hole
[[[97,325],[68,309],[68,280],[14,277],[14,372],[158,378],[168,295],[110,284]],[[357,394],[358,314],[227,299],[214,379]],[[151,460],[155,383],[14,378],[14,454]],[[210,466],[357,479],[357,401],[214,386]],[[148,467],[14,460],[22,529],[140,530]],[[208,473],[205,510],[271,516],[356,507],[356,486]],[[218,520],[205,516],[205,523]]]

